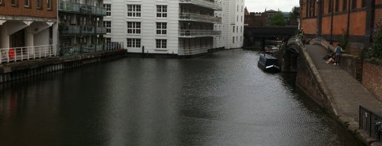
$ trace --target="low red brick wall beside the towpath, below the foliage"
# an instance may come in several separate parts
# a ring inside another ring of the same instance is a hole
[[[362,84],[382,101],[382,64],[365,61]]]

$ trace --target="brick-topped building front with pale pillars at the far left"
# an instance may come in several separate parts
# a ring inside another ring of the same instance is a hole
[[[41,57],[36,48],[56,49],[57,30],[57,1],[0,0],[0,61]]]

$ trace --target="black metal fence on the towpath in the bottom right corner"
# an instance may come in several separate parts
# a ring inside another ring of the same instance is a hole
[[[382,133],[378,131],[378,122],[382,121],[382,117],[364,106],[359,106],[359,128],[365,130],[370,137],[375,137],[381,141]],[[379,125],[381,126],[381,125]]]

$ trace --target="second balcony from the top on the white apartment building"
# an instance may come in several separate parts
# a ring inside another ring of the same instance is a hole
[[[221,17],[201,15],[198,13],[180,13],[180,21],[198,21],[205,23],[221,23]]]

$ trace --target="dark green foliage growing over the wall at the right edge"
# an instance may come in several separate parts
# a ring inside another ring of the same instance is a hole
[[[372,39],[373,43],[371,45],[371,50],[368,53],[368,57],[382,59],[382,21],[379,21],[376,28],[373,30]]]

